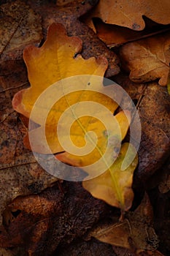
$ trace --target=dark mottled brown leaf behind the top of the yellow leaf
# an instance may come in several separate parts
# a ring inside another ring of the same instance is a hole
[[[80,21],[80,17],[93,8],[97,1],[72,1],[72,3],[58,7],[55,4],[37,4],[30,1],[32,9],[42,16],[44,34],[52,23],[61,23],[65,26],[69,36],[80,37],[83,42],[82,57],[89,59],[93,56],[104,56],[109,63],[105,76],[107,78],[116,75],[120,68],[119,59],[113,51],[110,51],[104,42],[101,42],[96,34]]]

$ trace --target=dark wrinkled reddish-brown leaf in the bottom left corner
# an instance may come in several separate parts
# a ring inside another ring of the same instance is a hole
[[[12,251],[20,246],[23,255],[52,255],[55,250],[58,254],[59,244],[66,247],[82,238],[107,215],[107,204],[91,197],[80,183],[65,181],[62,187],[64,194],[54,186],[15,198],[3,212],[0,246],[12,247]]]

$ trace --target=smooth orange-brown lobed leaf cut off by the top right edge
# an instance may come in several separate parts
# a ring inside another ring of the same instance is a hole
[[[98,17],[105,23],[142,30],[145,26],[143,16],[157,23],[169,24],[169,11],[169,0],[100,0],[97,7],[88,15],[88,23],[93,27],[91,18]]]

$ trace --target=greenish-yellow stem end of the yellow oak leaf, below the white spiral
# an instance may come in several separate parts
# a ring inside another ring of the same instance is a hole
[[[123,159],[128,150],[128,143],[124,143],[120,149],[120,155],[109,170],[100,176],[82,181],[82,186],[87,189],[93,197],[97,197],[106,201],[111,206],[121,208],[127,211],[131,208],[134,199],[134,193],[131,189],[134,170],[138,163],[137,157],[125,170],[121,170]],[[135,149],[131,146],[131,153],[134,154]]]

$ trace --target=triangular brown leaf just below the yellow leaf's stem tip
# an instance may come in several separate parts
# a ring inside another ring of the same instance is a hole
[[[152,207],[149,197],[145,195],[141,205],[134,212],[128,211],[123,222],[98,226],[96,230],[90,232],[90,236],[136,253],[157,249],[158,236],[152,227]]]

